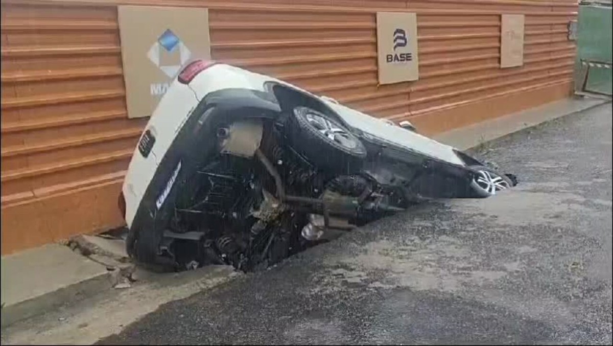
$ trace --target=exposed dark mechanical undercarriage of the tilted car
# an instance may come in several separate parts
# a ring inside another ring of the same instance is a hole
[[[181,183],[164,231],[160,256],[172,270],[261,269],[329,240],[330,231],[405,210],[423,199],[411,190],[421,175],[444,185],[444,175],[383,158],[316,165],[294,148],[288,126],[256,119],[217,129],[219,153]]]

